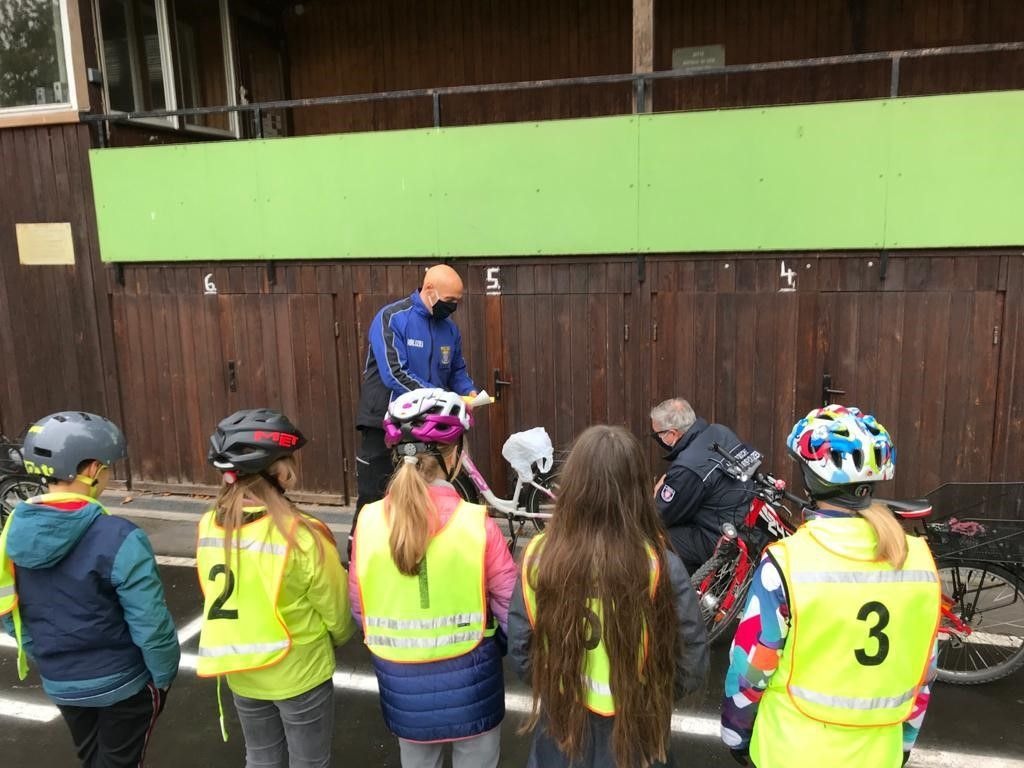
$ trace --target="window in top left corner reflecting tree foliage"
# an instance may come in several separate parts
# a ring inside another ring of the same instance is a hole
[[[62,0],[0,0],[0,110],[74,104],[69,50]]]

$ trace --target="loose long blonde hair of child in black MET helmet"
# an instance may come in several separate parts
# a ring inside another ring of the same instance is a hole
[[[291,456],[279,459],[267,468],[266,474],[274,478],[283,489],[290,490],[295,487],[298,479],[295,459]],[[231,562],[231,547],[233,545],[238,548],[242,539],[242,526],[246,522],[246,507],[254,506],[254,502],[266,509],[266,514],[270,516],[273,526],[285,537],[290,547],[299,548],[296,534],[299,528],[305,528],[312,537],[317,560],[324,557],[323,537],[326,535],[327,528],[317,525],[316,522],[303,514],[266,477],[262,474],[255,474],[239,477],[231,483],[225,482],[217,495],[215,508],[217,522],[224,529],[225,563]]]

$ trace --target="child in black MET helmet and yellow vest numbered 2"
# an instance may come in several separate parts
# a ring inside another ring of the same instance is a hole
[[[199,524],[198,673],[226,678],[247,766],[331,764],[334,648],[355,632],[334,537],[285,495],[304,443],[267,409],[232,414],[210,438],[223,484]]]

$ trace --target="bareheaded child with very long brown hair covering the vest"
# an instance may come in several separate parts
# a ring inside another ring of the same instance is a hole
[[[636,437],[590,427],[526,551],[509,652],[534,688],[530,767],[668,764],[673,705],[707,674],[696,596],[649,486]]]

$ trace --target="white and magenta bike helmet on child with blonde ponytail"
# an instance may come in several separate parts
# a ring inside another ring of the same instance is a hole
[[[454,445],[471,426],[465,400],[443,389],[414,389],[395,397],[384,417],[384,442]]]

